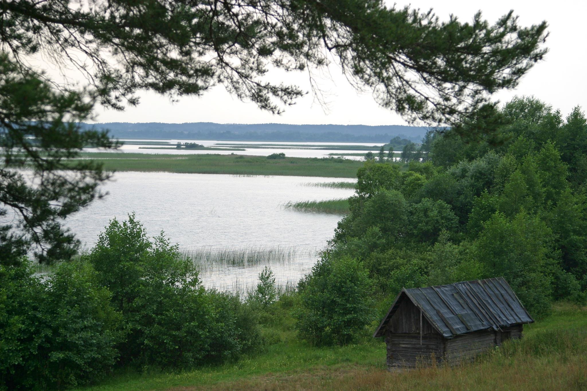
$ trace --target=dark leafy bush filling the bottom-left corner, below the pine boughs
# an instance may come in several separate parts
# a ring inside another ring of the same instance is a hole
[[[63,388],[108,372],[122,337],[120,314],[89,264],[62,264],[44,283],[28,261],[2,274],[0,387]]]

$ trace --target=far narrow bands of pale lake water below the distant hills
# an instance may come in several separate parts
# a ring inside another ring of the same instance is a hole
[[[196,142],[197,144],[204,145],[205,147],[221,147],[221,148],[228,148],[228,145],[217,145],[218,143],[221,144],[280,144],[283,147],[274,147],[274,148],[247,148],[244,147],[245,151],[205,151],[205,150],[177,150],[177,149],[154,149],[154,148],[161,148],[166,147],[166,145],[149,145],[149,144],[141,144],[141,145],[123,145],[118,149],[120,152],[133,152],[133,153],[141,153],[141,154],[220,154],[220,155],[255,155],[255,156],[267,156],[270,154],[278,154],[284,152],[288,157],[294,158],[323,158],[328,157],[329,154],[346,154],[346,153],[360,153],[365,155],[367,151],[356,151],[352,149],[317,149],[321,147],[300,147],[300,148],[292,148],[288,147],[288,145],[340,145],[341,147],[350,146],[350,145],[365,145],[365,146],[373,146],[372,152],[376,154],[379,152],[379,148],[383,145],[382,142],[268,142],[268,141],[211,141],[211,140],[121,140],[121,141],[131,141],[131,142],[149,142],[149,141],[159,141],[159,142],[170,142],[169,147],[175,147],[177,142]],[[141,148],[143,147],[143,148]],[[145,149],[147,147],[148,149]],[[235,148],[241,148],[237,145],[234,146]],[[96,148],[85,148],[84,151],[87,152],[102,152],[100,149]],[[387,152],[386,152],[387,153]],[[363,156],[345,156],[346,159],[355,159],[359,160],[362,159]]]

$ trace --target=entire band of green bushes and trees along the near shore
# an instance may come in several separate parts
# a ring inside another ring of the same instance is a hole
[[[497,145],[428,134],[411,152],[421,161],[366,161],[349,214],[295,291],[279,295],[268,268],[245,297],[208,290],[133,215],[43,278],[26,259],[2,264],[0,384],[65,388],[113,370],[220,365],[284,338],[316,349],[365,341],[402,287],[503,276],[537,319],[554,301],[584,304],[585,115],[562,118],[534,98],[501,113]]]

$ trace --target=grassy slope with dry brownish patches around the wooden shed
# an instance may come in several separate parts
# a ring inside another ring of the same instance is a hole
[[[176,373],[119,373],[87,390],[585,390],[587,308],[556,304],[552,315],[524,327],[521,341],[453,368],[388,372],[385,345],[315,348],[296,342],[292,320],[281,341],[257,356]]]

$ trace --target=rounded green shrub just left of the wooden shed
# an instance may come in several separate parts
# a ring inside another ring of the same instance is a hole
[[[372,284],[359,261],[319,260],[299,287],[296,328],[312,344],[348,344],[372,321]]]

